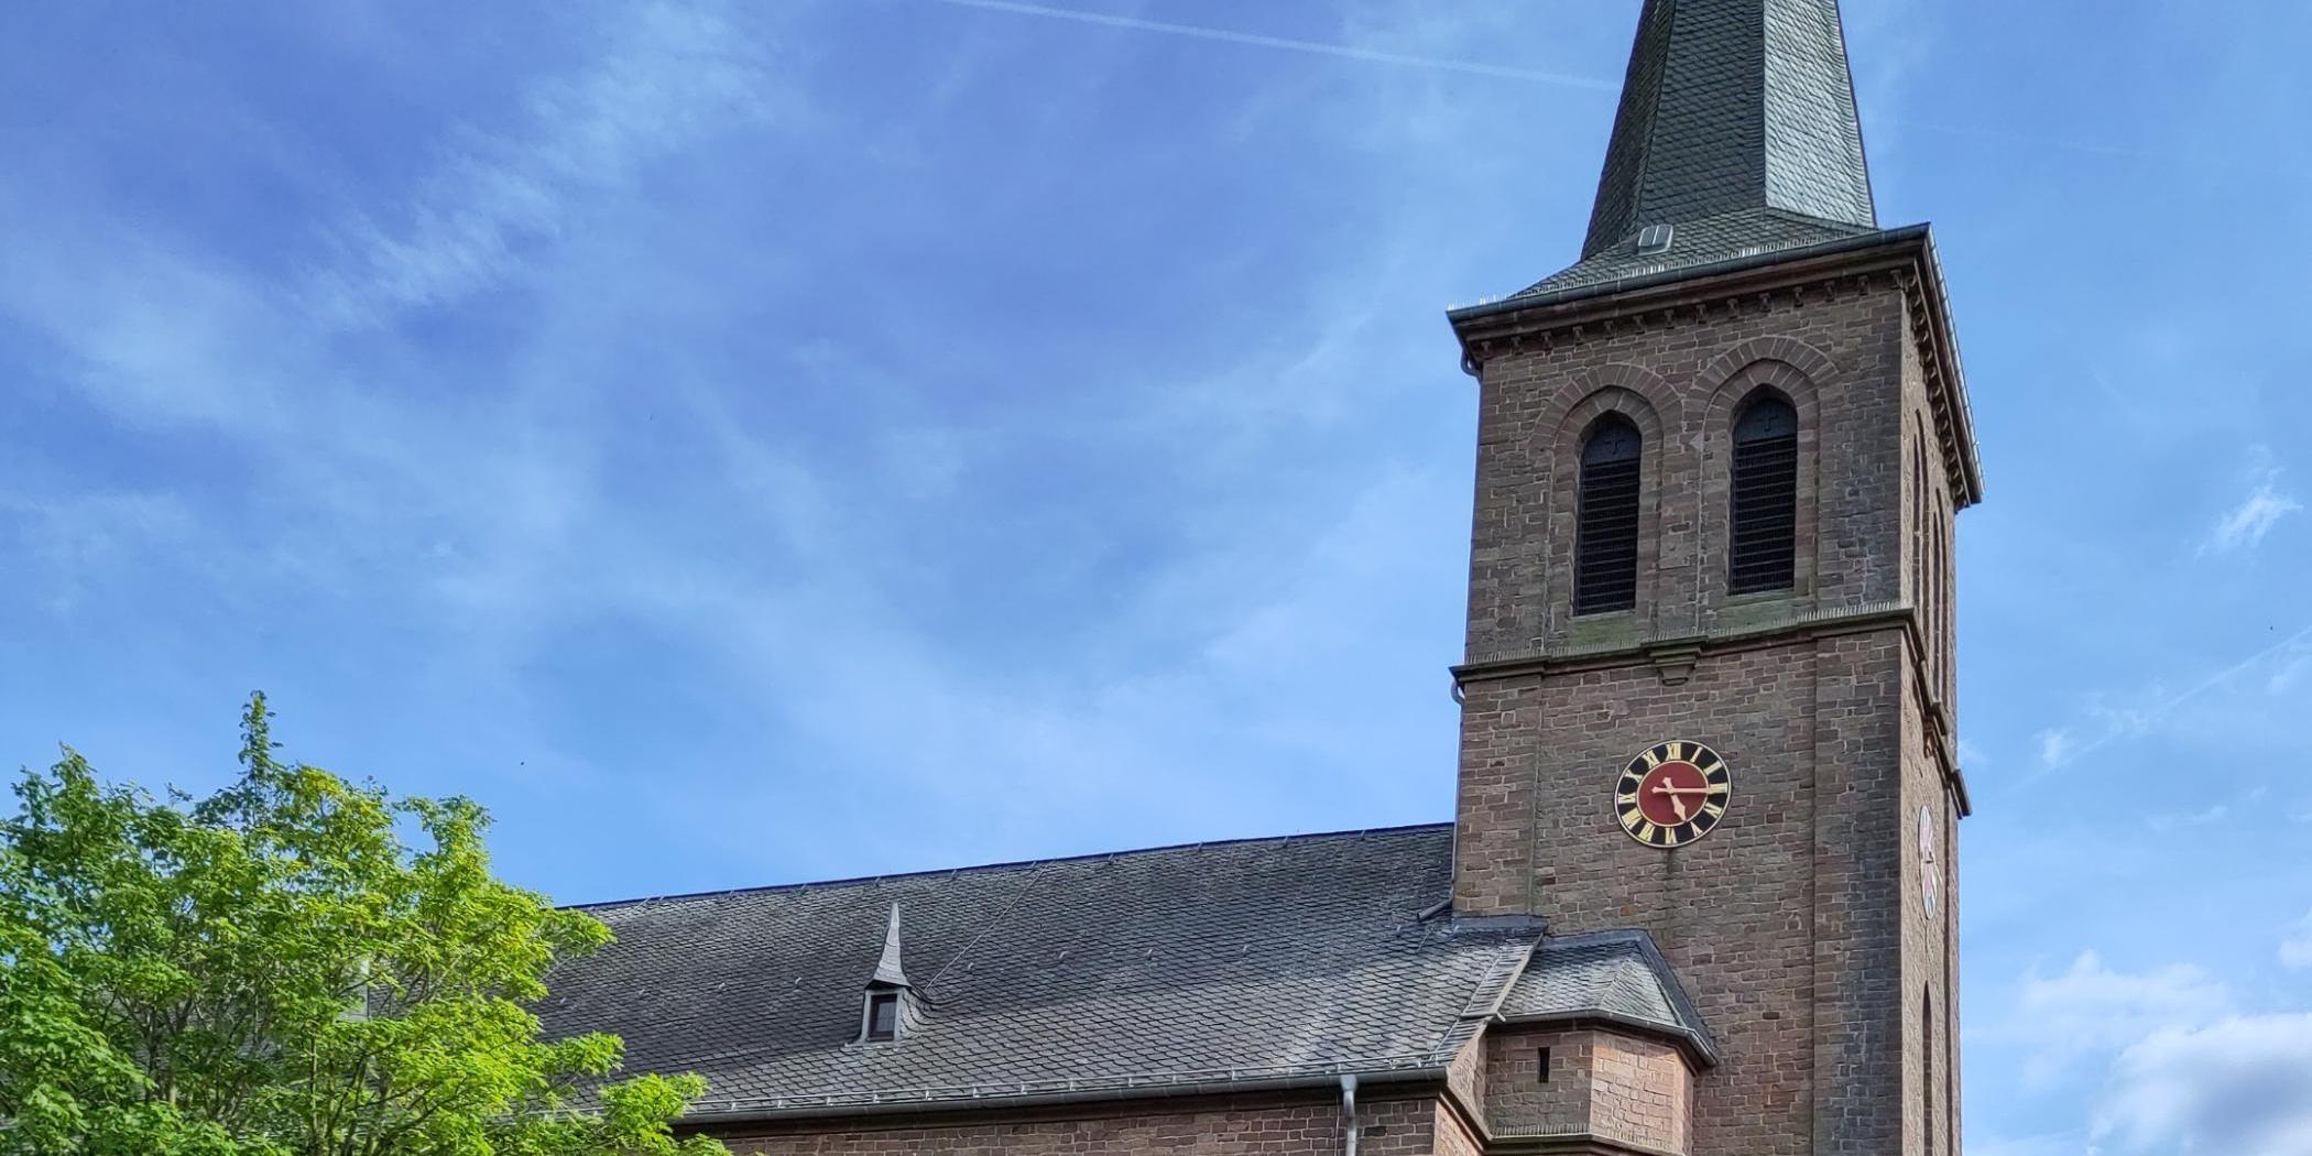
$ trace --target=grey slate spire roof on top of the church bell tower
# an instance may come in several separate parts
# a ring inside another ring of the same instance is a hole
[[[1581,264],[1526,294],[1870,231],[1838,0],[1646,0]]]

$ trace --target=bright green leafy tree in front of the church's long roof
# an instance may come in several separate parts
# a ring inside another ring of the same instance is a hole
[[[705,1156],[694,1075],[529,1006],[608,943],[490,874],[488,816],[280,763],[213,798],[72,749],[0,823],[0,1156]]]

